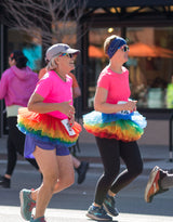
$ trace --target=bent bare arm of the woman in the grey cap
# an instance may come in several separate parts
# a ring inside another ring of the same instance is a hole
[[[69,118],[75,114],[75,108],[70,105],[70,101],[63,103],[43,103],[43,100],[41,95],[34,93],[28,102],[28,109],[40,114],[59,110]]]

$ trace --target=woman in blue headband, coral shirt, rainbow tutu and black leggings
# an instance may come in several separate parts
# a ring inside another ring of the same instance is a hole
[[[83,116],[83,127],[96,138],[104,165],[94,203],[86,216],[93,220],[112,220],[119,214],[115,196],[143,170],[143,160],[136,141],[144,133],[145,118],[136,112],[136,101],[130,100],[128,61],[129,47],[118,36],[104,43],[109,65],[101,73],[94,100],[95,110]],[[127,169],[119,173],[120,157]]]

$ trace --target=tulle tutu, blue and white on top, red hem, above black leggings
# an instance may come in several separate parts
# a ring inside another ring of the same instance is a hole
[[[147,126],[145,117],[138,112],[131,114],[103,114],[91,112],[83,115],[83,127],[95,136],[116,139],[123,142],[138,140]]]

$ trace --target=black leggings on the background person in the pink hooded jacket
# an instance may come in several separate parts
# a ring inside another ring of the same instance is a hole
[[[8,136],[8,168],[6,174],[12,175],[16,160],[17,153],[24,156],[24,144],[25,144],[25,134],[23,134],[17,125],[17,117],[9,117],[8,126],[9,126],[9,136]],[[27,159],[36,169],[39,169],[37,161],[35,159]]]

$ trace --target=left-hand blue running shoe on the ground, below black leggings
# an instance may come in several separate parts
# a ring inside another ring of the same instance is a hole
[[[107,214],[103,207],[95,207],[93,205],[90,206],[86,217],[97,221],[112,221],[112,218]]]

